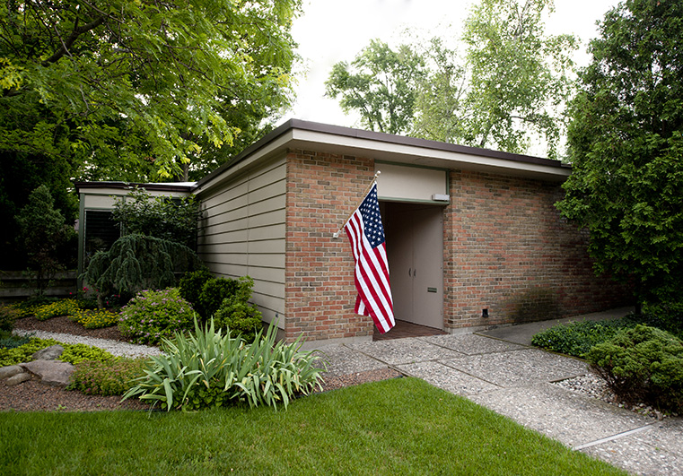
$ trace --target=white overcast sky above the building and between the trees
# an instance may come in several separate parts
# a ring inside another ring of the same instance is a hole
[[[426,38],[438,34],[460,34],[470,0],[303,0],[303,14],[294,20],[293,38],[299,44],[304,72],[293,111],[295,117],[333,125],[358,127],[356,116],[346,116],[337,100],[324,97],[325,81],[332,65],[352,61],[371,39],[397,44],[407,28],[425,32]],[[617,0],[556,0],[556,11],[547,18],[546,31],[572,33],[582,40],[576,61],[586,65],[588,40],[597,36],[595,22]]]

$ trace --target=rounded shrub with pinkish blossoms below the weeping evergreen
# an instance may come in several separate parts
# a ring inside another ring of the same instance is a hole
[[[118,329],[132,342],[158,344],[192,328],[194,312],[178,288],[144,290],[121,309]]]

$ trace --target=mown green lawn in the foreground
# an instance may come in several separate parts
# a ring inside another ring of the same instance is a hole
[[[288,411],[1,413],[9,474],[626,474],[414,378]]]

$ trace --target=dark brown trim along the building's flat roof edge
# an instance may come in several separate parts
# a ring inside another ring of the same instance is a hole
[[[366,139],[369,141],[376,141],[381,143],[396,143],[402,145],[410,145],[414,147],[423,147],[425,149],[433,149],[436,151],[466,153],[469,155],[477,155],[479,157],[512,160],[521,163],[544,165],[547,167],[556,167],[558,169],[571,169],[571,166],[562,163],[562,161],[560,160],[543,159],[541,157],[533,157],[530,155],[523,155],[503,151],[492,151],[489,149],[480,149],[478,147],[470,147],[468,145],[458,145],[454,143],[440,143],[437,141],[428,141],[426,139],[417,139],[416,137],[408,137],[407,135],[378,133],[374,131],[365,131],[363,129],[354,129],[352,127],[343,127],[341,125],[329,125],[322,124],[319,122],[304,121],[302,119],[289,119],[284,124],[278,126],[270,134],[267,134],[258,142],[253,143],[252,145],[250,145],[250,147],[248,147],[244,151],[241,151],[238,155],[233,157],[232,160],[229,160],[218,169],[215,169],[213,172],[209,173],[206,177],[197,181],[196,187],[202,186],[207,182],[210,182],[214,179],[214,177],[220,175],[221,172],[223,172],[224,170],[230,169],[234,164],[240,162],[241,160],[249,156],[252,152],[258,151],[258,149],[260,149],[267,143],[274,141],[277,137],[279,137],[282,134],[285,134],[287,131],[292,129],[300,129],[302,131],[318,132],[323,134],[340,135],[344,137],[355,137],[358,139]]]

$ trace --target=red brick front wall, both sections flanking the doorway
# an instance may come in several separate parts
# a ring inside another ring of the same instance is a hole
[[[354,314],[353,257],[332,239],[362,199],[372,159],[314,151],[287,155],[285,336],[309,341],[367,338]],[[562,189],[546,182],[451,171],[444,210],[444,327],[575,316],[627,303],[596,278],[587,236],[563,221]],[[483,308],[489,317],[483,318]]]

